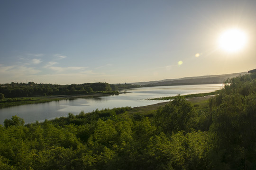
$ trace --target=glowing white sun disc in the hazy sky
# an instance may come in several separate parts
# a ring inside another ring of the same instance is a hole
[[[227,52],[237,52],[242,50],[247,43],[247,35],[237,29],[229,29],[219,37],[219,47]]]

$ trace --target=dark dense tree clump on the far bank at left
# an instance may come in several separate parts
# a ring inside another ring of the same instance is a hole
[[[110,92],[117,90],[115,85],[108,83],[85,83],[82,85],[52,85],[36,84],[34,82],[11,83],[0,86],[0,99],[2,97],[32,97],[46,95],[67,95],[67,94],[85,94],[97,92]],[[1,95],[4,94],[4,96]]]

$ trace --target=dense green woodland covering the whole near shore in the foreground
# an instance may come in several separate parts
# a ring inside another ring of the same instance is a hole
[[[153,114],[131,110],[69,113],[26,125],[17,116],[5,119],[0,169],[256,169],[255,73],[227,80],[205,106],[177,95]]]

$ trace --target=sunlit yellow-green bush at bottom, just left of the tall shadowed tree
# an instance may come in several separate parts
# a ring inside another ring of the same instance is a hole
[[[157,170],[205,170],[208,141],[209,136],[201,131],[180,131],[170,137],[162,132],[150,138],[145,159]]]

